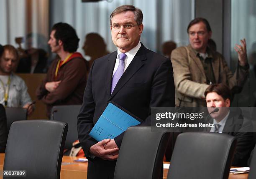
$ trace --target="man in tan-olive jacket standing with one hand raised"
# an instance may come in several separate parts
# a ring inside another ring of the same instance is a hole
[[[190,44],[172,51],[171,61],[176,89],[176,106],[205,106],[205,90],[213,83],[224,83],[233,91],[240,91],[248,75],[246,41],[236,44],[238,68],[233,75],[223,56],[210,50],[207,42],[211,28],[204,18],[192,20],[187,28]],[[239,90],[237,90],[239,89]]]

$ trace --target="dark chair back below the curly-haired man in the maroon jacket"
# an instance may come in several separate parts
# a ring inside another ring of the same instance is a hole
[[[72,143],[78,140],[77,116],[81,105],[54,106],[51,109],[51,120],[63,121],[69,124],[69,131],[64,149],[71,149]]]

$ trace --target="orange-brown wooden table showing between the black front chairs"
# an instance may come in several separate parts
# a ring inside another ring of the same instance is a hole
[[[0,153],[0,170],[3,170],[5,154]],[[82,157],[79,157],[82,158]],[[87,162],[74,162],[78,157],[63,156],[61,179],[87,179]],[[167,179],[168,169],[164,169],[163,179]],[[229,174],[228,179],[247,179],[248,174]],[[0,179],[3,179],[1,176]]]

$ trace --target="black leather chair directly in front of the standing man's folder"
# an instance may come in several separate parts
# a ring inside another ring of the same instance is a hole
[[[114,179],[158,179],[169,132],[151,126],[132,126],[124,134]]]

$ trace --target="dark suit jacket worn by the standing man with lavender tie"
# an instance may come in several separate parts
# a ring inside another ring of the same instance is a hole
[[[116,57],[117,51],[98,58],[90,69],[83,104],[77,117],[78,138],[86,156],[90,147],[97,143],[88,134],[108,101],[114,101],[138,116],[145,121],[143,124],[150,124],[151,106],[174,106],[175,89],[170,60],[141,44],[133,61],[110,94]],[[115,138],[119,148],[122,139],[123,134]],[[94,159],[94,162],[100,160]],[[101,176],[104,177],[103,174]]]

